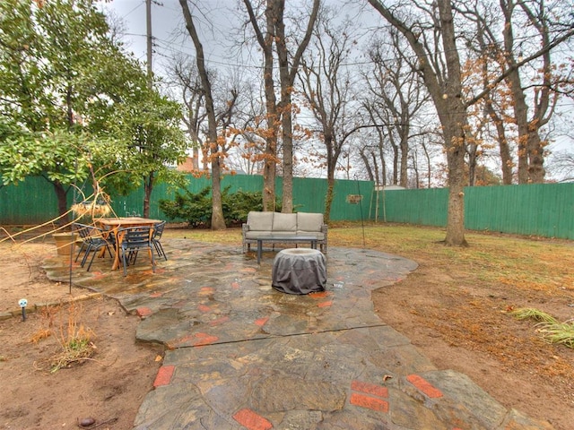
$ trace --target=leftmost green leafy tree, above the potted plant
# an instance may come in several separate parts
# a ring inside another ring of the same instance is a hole
[[[107,30],[86,0],[0,4],[0,116],[10,125],[0,142],[2,181],[46,178],[60,214],[71,185],[88,176],[91,138],[80,118],[91,87],[83,80],[115,48]]]

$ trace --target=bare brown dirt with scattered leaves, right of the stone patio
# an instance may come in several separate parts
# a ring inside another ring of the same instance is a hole
[[[574,428],[574,350],[544,342],[535,323],[507,312],[533,307],[567,321],[574,317],[572,293],[551,299],[532,291],[525,297],[500,284],[494,294],[467,280],[460,285],[456,273],[431,262],[419,264],[405,280],[373,292],[379,317],[434,366],[467,374],[505,407],[557,430]]]

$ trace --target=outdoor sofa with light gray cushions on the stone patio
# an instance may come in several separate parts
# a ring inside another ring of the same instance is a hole
[[[250,211],[248,220],[243,224],[243,253],[251,249],[251,244],[259,242],[285,243],[313,242],[326,254],[327,226],[322,213],[281,213],[271,211]],[[262,240],[262,237],[264,239]]]

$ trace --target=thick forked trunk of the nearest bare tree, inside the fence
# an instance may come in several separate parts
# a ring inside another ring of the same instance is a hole
[[[409,2],[386,6],[369,3],[408,41],[418,59],[418,70],[431,94],[444,134],[448,162],[447,245],[467,245],[465,239],[464,168],[467,139],[466,106],[462,99],[462,70],[452,4]]]

